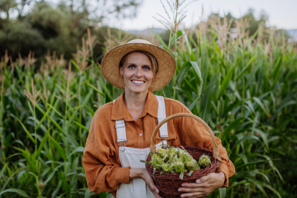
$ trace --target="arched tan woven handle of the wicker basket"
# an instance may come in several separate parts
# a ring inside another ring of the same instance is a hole
[[[159,130],[159,128],[167,121],[173,119],[173,118],[176,118],[176,117],[190,117],[190,118],[193,118],[195,120],[197,120],[198,122],[200,122],[204,128],[207,130],[207,132],[209,133],[211,139],[212,139],[212,142],[213,142],[213,157],[216,158],[217,160],[219,160],[220,162],[222,162],[222,159],[219,157],[219,148],[218,148],[218,144],[215,140],[215,136],[211,130],[211,128],[201,119],[199,118],[197,115],[194,115],[194,114],[191,114],[191,113],[176,113],[176,114],[173,114],[173,115],[170,115],[168,117],[166,117],[164,120],[162,120],[157,126],[156,128],[154,129],[153,133],[152,133],[152,136],[151,136],[151,141],[150,141],[150,147],[149,147],[149,150],[152,151],[152,152],[155,152],[156,151],[156,145],[155,145],[155,138],[156,138],[156,134]]]

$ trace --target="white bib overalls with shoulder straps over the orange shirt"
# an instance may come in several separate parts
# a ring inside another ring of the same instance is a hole
[[[166,118],[165,102],[161,96],[155,96],[158,100],[158,123]],[[114,100],[113,100],[114,101]],[[146,164],[140,162],[140,160],[146,160],[149,148],[130,148],[125,147],[126,128],[125,121],[116,120],[115,128],[117,134],[117,142],[120,143],[119,158],[122,167],[130,166],[131,168],[146,168]],[[163,124],[160,129],[160,138],[163,140],[163,144],[167,144],[166,138],[168,138],[167,122]],[[121,145],[122,143],[122,145]],[[162,142],[157,144],[157,148],[162,145]],[[146,182],[142,178],[135,178],[130,180],[130,184],[121,184],[120,188],[116,191],[117,198],[154,198],[154,195],[148,189]]]

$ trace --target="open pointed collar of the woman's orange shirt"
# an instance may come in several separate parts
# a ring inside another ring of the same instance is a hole
[[[125,102],[124,102],[125,92],[121,94],[116,100],[114,100],[111,110],[111,120],[122,120],[125,121],[133,121],[131,114],[128,112]],[[147,101],[143,112],[139,116],[144,117],[146,114],[150,114],[151,116],[157,118],[158,117],[158,100],[157,98],[148,91]]]

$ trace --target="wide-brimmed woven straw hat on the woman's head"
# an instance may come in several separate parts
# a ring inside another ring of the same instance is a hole
[[[174,57],[166,49],[152,45],[148,41],[142,39],[135,39],[127,44],[110,49],[103,57],[101,63],[103,77],[113,86],[125,89],[124,80],[119,72],[120,61],[124,55],[135,50],[143,50],[151,53],[158,62],[158,71],[151,81],[148,90],[154,92],[167,85],[176,70]]]

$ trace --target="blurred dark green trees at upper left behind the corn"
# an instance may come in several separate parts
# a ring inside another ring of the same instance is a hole
[[[82,39],[87,38],[88,28],[91,29],[93,35],[99,38],[100,45],[94,49],[95,58],[99,57],[104,51],[101,49],[102,44],[108,36],[106,35],[107,27],[98,27],[97,24],[102,23],[102,20],[110,14],[122,15],[125,9],[137,7],[140,3],[136,0],[105,3],[105,6],[100,7],[108,9],[106,16],[94,18],[97,13],[101,13],[99,10],[92,12],[94,8],[84,7],[84,5],[80,5],[84,8],[83,10],[80,6],[74,9],[74,5],[66,5],[63,1],[57,6],[52,6],[45,1],[37,1],[30,4],[28,13],[22,13],[24,5],[29,2],[32,1],[24,0],[21,3],[15,3],[14,0],[0,1],[0,13],[8,13],[7,10],[12,9],[19,12],[19,16],[15,19],[9,17],[0,19],[0,54],[4,54],[7,49],[9,55],[15,59],[18,53],[25,56],[32,50],[39,62],[44,60],[44,55],[48,50],[55,51],[58,56],[64,54],[66,59],[71,59],[72,53],[76,52]],[[84,1],[75,3],[83,4]],[[104,2],[99,0],[97,3],[100,5]],[[112,29],[110,35],[118,35],[119,32],[121,31],[118,29]],[[125,35],[126,33],[123,32],[122,36]]]

